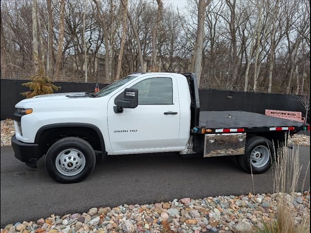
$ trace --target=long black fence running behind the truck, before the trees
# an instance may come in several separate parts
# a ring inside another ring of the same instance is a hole
[[[22,86],[25,80],[1,79],[1,120],[11,118],[15,111],[15,104],[24,97],[20,94],[28,90]],[[69,83],[55,82],[61,89],[55,93],[62,92],[94,92],[96,83]],[[100,89],[106,84],[99,83]],[[285,94],[267,94],[238,91],[221,91],[214,89],[200,89],[200,104],[202,111],[229,111],[242,110],[264,114],[265,109],[302,112],[302,109],[294,96]],[[310,114],[308,115],[310,122]]]

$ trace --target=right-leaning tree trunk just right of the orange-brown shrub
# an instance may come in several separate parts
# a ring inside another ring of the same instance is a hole
[[[54,78],[56,80],[59,79],[60,68],[61,68],[61,63],[62,63],[63,40],[64,40],[64,17],[65,17],[65,0],[60,0],[58,49],[57,49],[55,75],[54,75]]]

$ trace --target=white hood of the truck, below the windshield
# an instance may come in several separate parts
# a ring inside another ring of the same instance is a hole
[[[72,100],[72,99],[88,99],[89,96],[85,95],[85,92],[69,92],[69,93],[57,93],[57,94],[48,94],[35,96],[30,99],[24,99],[17,103],[16,107],[22,106],[26,103],[35,103],[43,101],[54,101],[54,100]]]

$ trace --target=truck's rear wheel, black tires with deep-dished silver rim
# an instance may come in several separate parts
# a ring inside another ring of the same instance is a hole
[[[266,172],[275,161],[275,152],[270,140],[254,136],[246,140],[245,153],[240,155],[240,166],[248,173]]]

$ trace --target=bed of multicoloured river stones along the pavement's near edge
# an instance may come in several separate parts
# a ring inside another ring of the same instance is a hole
[[[310,210],[310,192],[294,193],[287,200],[297,213]],[[91,208],[87,213],[17,222],[1,233],[248,233],[276,214],[276,194],[184,198],[146,205]]]

